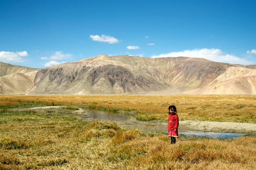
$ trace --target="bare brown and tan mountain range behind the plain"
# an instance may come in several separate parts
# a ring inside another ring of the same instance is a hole
[[[6,81],[8,76],[16,74],[20,81],[8,79],[12,88],[0,89],[2,94],[24,91],[25,88],[14,90],[17,88],[14,85],[21,82],[28,84],[24,87],[31,94],[256,94],[256,65],[218,63],[202,58],[98,55],[44,69],[28,68],[30,72],[22,73],[27,77],[18,75],[21,66],[12,67],[8,75],[5,73],[0,78]]]

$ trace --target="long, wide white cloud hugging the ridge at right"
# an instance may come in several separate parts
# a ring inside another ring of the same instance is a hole
[[[254,64],[252,61],[247,61],[246,59],[236,57],[234,55],[223,55],[223,52],[220,49],[193,49],[193,50],[184,50],[184,51],[176,51],[166,54],[153,55],[152,58],[158,57],[196,57],[196,58],[204,58],[216,62],[223,63],[232,63],[232,64]]]

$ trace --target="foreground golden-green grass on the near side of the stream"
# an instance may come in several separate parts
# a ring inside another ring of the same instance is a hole
[[[0,169],[255,169],[256,138],[126,130],[72,115],[0,111]]]

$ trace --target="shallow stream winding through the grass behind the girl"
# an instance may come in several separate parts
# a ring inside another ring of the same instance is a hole
[[[86,110],[83,116],[81,117],[82,121],[130,121],[134,124],[131,125],[120,125],[121,127],[134,129],[138,128],[144,132],[152,132],[152,131],[163,131],[167,134],[167,127],[163,125],[146,125],[142,124],[140,121],[137,121],[135,117],[130,115],[123,115],[123,114],[110,114],[103,111],[90,111]],[[196,132],[190,130],[179,129],[179,134],[185,135],[194,135],[194,136],[206,136],[212,138],[234,138],[243,136],[242,134],[235,134],[235,133],[215,133],[215,132]]]

